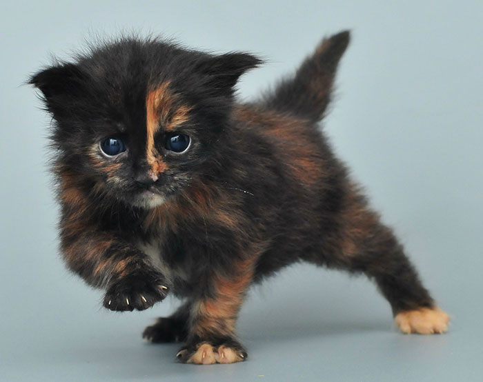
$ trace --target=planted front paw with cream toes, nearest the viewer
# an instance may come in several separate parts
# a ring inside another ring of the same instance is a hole
[[[220,345],[204,341],[186,345],[176,355],[184,363],[211,365],[213,363],[235,363],[246,360],[246,350],[237,341],[227,341]]]

